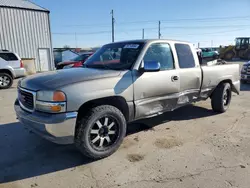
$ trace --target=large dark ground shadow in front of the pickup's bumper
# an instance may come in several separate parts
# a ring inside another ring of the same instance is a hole
[[[92,162],[73,145],[53,144],[20,123],[0,125],[0,149],[0,184]]]

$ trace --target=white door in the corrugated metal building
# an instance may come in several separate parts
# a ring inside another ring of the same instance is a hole
[[[42,48],[38,50],[39,52],[39,71],[49,71],[50,56],[49,49]]]

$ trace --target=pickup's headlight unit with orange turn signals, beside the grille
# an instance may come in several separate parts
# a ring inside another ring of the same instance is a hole
[[[66,112],[66,95],[62,91],[38,91],[36,110],[48,113]]]

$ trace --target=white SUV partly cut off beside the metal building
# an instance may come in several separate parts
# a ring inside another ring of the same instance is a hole
[[[25,74],[22,60],[16,53],[0,50],[0,89],[11,87],[13,79]]]

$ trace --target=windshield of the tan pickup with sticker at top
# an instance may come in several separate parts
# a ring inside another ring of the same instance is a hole
[[[126,70],[135,63],[144,43],[126,42],[104,45],[84,63],[87,68]]]

